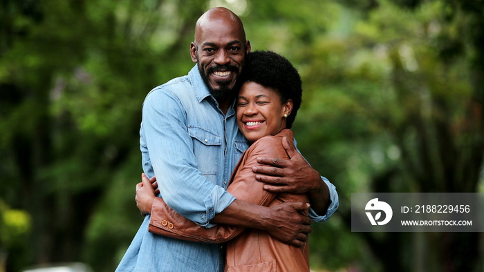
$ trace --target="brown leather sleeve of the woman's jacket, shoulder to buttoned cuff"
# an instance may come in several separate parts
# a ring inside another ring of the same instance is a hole
[[[258,166],[257,157],[288,158],[281,142],[275,137],[263,137],[243,154],[227,191],[237,199],[252,204],[268,206],[274,200],[275,193],[263,189],[263,183],[255,179],[253,166]],[[165,202],[156,197],[151,208],[149,232],[179,240],[193,242],[221,243],[239,235],[245,228],[218,224],[205,229],[169,208]]]

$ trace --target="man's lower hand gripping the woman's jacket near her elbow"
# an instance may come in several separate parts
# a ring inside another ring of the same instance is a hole
[[[266,231],[283,243],[304,246],[308,234],[313,231],[309,226],[311,220],[306,216],[308,208],[309,205],[303,202],[283,202],[273,206]]]

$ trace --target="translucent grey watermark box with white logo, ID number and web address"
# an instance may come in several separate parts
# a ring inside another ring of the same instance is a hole
[[[353,232],[484,232],[483,214],[484,192],[351,193]]]

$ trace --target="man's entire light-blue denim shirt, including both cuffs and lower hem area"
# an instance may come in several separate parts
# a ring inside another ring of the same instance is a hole
[[[234,200],[225,191],[249,142],[239,132],[234,104],[224,115],[198,67],[151,90],[143,104],[140,149],[143,171],[156,175],[160,195],[181,215],[201,226]],[[328,220],[339,202],[328,184],[331,206],[313,222]],[[223,271],[222,245],[174,240],[148,233],[145,217],[116,271]]]

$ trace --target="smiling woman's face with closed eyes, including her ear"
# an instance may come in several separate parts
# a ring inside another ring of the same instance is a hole
[[[254,82],[245,82],[237,98],[237,122],[239,129],[250,142],[266,135],[276,135],[286,128],[285,114],[292,110],[292,100],[281,104],[274,88],[266,88]]]

